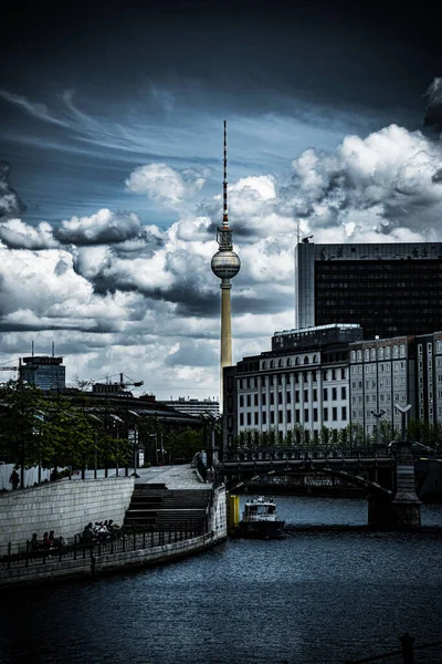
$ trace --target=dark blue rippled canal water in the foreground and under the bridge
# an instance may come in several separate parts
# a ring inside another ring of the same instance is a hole
[[[364,500],[277,498],[291,523],[366,523]],[[442,506],[423,522],[442,526]],[[1,664],[344,664],[442,640],[442,536],[297,532],[91,582],[1,593]],[[401,662],[391,657],[386,662]],[[418,651],[440,664],[442,649]]]

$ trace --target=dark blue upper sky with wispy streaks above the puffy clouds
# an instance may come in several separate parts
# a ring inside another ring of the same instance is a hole
[[[203,165],[211,194],[223,117],[231,177],[280,175],[311,145],[392,120],[419,128],[441,68],[436,23],[429,2],[18,2],[0,158],[30,221],[108,206],[167,224],[125,178],[149,162]]]

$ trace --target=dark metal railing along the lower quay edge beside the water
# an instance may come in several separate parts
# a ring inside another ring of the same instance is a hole
[[[64,546],[51,549],[31,550],[30,541],[25,544],[11,544],[9,542],[0,550],[0,570],[11,570],[22,567],[44,566],[50,562],[70,562],[86,558],[99,558],[126,551],[152,549],[164,544],[181,542],[208,533],[208,523],[204,517],[188,519],[170,523],[160,523],[150,528],[122,529],[120,536],[92,542],[82,541],[81,536],[67,540]]]

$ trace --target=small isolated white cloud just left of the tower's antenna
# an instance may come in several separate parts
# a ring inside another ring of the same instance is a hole
[[[176,170],[167,164],[152,163],[139,166],[126,179],[133,194],[146,194],[161,205],[175,208],[202,189],[207,169],[183,168]]]

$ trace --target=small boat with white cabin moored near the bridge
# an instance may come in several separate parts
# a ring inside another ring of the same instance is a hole
[[[273,498],[256,496],[245,501],[238,529],[242,537],[276,539],[283,537],[284,525],[285,521],[277,518]]]

